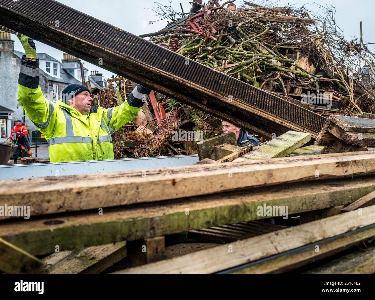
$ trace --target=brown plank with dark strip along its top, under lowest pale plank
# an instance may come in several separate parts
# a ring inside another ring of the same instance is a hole
[[[287,251],[281,255],[275,255],[266,260],[255,261],[248,265],[239,266],[229,270],[230,274],[280,274],[297,269],[309,263],[322,260],[342,252],[354,245],[375,236],[375,226],[367,226],[360,230],[350,231],[339,237],[326,239],[318,243],[303,246]],[[317,248],[316,246],[319,246]],[[317,251],[318,250],[318,251]]]

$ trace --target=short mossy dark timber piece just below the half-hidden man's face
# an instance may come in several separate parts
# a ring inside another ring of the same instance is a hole
[[[205,158],[216,160],[214,148],[217,145],[223,145],[223,144],[237,146],[236,134],[234,132],[229,132],[229,133],[225,133],[222,135],[214,136],[213,138],[205,139],[204,141],[197,142],[196,148],[198,150],[199,160],[202,160]]]

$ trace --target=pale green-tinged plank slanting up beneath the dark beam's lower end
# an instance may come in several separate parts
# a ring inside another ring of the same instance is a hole
[[[263,145],[254,147],[252,151],[236,158],[234,161],[285,157],[309,142],[310,138],[311,136],[308,133],[290,130],[277,138],[265,142]]]

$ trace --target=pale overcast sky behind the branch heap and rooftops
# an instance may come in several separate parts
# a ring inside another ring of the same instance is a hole
[[[168,0],[156,1],[162,4],[169,3]],[[172,0],[172,6],[175,10],[180,10],[181,2],[184,12],[189,12],[189,1],[191,0]],[[158,18],[154,16],[152,10],[145,9],[155,5],[153,0],[60,0],[59,2],[136,35],[158,31],[164,28],[167,23],[167,21],[163,20],[149,24],[149,21],[154,21]],[[203,0],[203,2],[207,1]],[[221,1],[221,3],[223,2]],[[237,0],[236,2],[241,3],[242,1]],[[311,11],[318,10],[320,5],[326,6],[332,3],[336,5],[336,23],[344,30],[347,38],[360,36],[359,22],[362,21],[364,42],[375,42],[374,0],[315,0],[314,2],[311,1],[311,4],[306,4],[306,1],[299,0],[280,0],[277,5],[286,6],[288,3],[293,3],[297,7],[305,5]],[[13,34],[12,39],[15,40],[15,50],[23,51],[21,43]],[[37,41],[35,44],[38,53],[48,53],[58,60],[63,58],[62,51]],[[84,66],[89,71],[102,71],[107,78],[113,75],[113,73],[88,62],[84,62]]]

